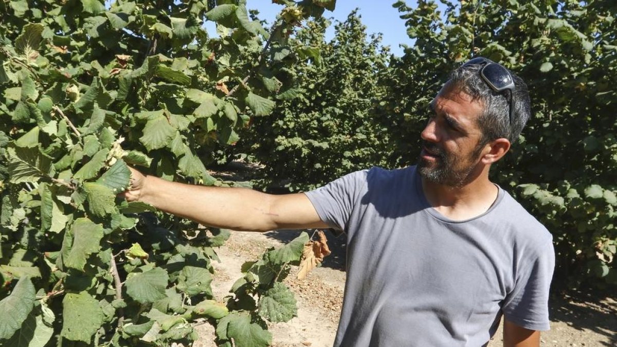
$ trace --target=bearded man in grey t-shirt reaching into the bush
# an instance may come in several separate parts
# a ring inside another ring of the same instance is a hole
[[[549,329],[552,236],[489,180],[529,118],[523,81],[475,58],[431,102],[418,165],[354,172],[307,193],[183,185],[133,172],[127,199],[213,227],[347,233],[335,346],[504,346]]]

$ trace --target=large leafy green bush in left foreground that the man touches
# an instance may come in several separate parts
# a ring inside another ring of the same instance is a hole
[[[280,281],[297,241],[217,303],[213,247],[228,231],[116,194],[127,164],[222,185],[204,164],[292,88],[289,35],[333,7],[290,2],[295,17],[268,33],[244,0],[0,2],[1,343],[167,346],[206,319],[222,344],[267,345],[265,320],[295,313]]]

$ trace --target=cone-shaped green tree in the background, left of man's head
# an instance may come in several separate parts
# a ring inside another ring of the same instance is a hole
[[[387,49],[379,47],[379,36],[367,37],[355,11],[326,42],[328,26],[324,19],[309,22],[290,40],[296,59],[320,54],[289,69],[294,89],[278,94],[272,115],[252,120],[238,144],[265,165],[261,185],[307,190],[383,164],[387,132],[370,110],[384,89],[377,78]]]

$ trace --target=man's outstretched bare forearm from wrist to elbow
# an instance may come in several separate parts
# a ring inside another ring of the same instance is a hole
[[[267,231],[277,227],[271,195],[245,188],[168,182],[147,176],[139,201],[210,227]]]

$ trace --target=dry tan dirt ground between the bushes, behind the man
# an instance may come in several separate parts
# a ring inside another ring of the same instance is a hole
[[[299,235],[297,231],[280,230],[268,233],[233,232],[225,246],[218,249],[220,264],[215,263],[212,282],[218,299],[227,295],[234,281],[241,277],[245,261],[257,258],[270,246],[280,246]],[[332,346],[341,311],[345,283],[345,240],[327,233],[333,251],[323,266],[313,270],[304,280],[290,275],[286,281],[296,293],[298,316],[287,323],[270,326],[273,346]],[[617,293],[576,293],[550,303],[551,330],[542,333],[542,346],[603,347],[617,346]],[[200,325],[201,340],[196,347],[215,346],[213,328]],[[489,343],[502,346],[501,331]]]

